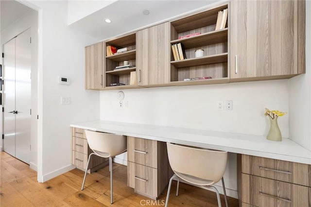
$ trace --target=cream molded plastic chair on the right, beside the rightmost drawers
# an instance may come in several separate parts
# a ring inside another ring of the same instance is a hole
[[[211,185],[222,180],[225,206],[228,207],[223,178],[227,164],[227,152],[198,149],[167,143],[167,153],[174,174],[170,179],[165,207],[168,205],[173,180],[177,180],[176,196],[178,196],[180,179],[193,186],[203,189],[212,188],[215,190],[219,207],[221,207],[219,192]]]

